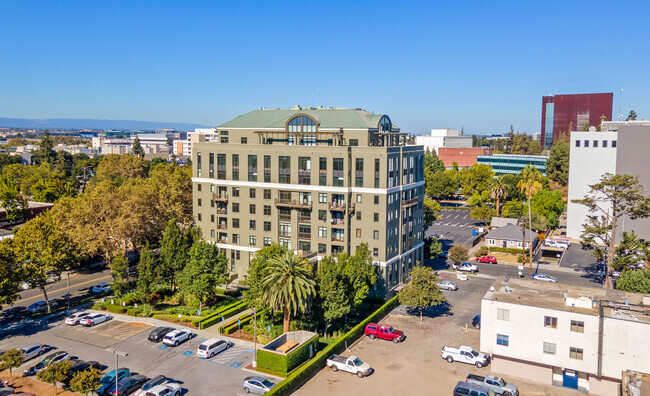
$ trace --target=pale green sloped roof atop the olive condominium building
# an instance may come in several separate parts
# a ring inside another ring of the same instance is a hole
[[[226,128],[284,128],[287,121],[296,114],[307,114],[318,120],[319,128],[377,128],[382,114],[372,114],[365,110],[357,109],[270,109],[253,110],[240,115],[219,129]]]

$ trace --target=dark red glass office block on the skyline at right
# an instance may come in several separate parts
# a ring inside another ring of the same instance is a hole
[[[613,99],[611,92],[543,96],[542,145],[551,147],[558,138],[581,130],[586,123],[597,127],[602,116],[611,121]]]

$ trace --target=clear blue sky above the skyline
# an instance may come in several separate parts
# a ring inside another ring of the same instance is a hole
[[[539,132],[541,97],[650,118],[650,2],[0,1],[0,117],[219,125],[361,107],[404,132]]]

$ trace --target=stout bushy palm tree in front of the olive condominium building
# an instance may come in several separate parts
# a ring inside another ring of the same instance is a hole
[[[284,332],[289,331],[291,313],[305,311],[316,294],[309,262],[287,252],[269,260],[267,277],[262,281],[262,298],[273,309],[284,311]]]

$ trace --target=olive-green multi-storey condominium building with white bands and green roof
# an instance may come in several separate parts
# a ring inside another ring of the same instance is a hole
[[[296,106],[217,129],[219,143],[192,148],[194,216],[233,277],[274,242],[313,260],[366,242],[378,293],[422,262],[424,150],[387,115]]]

